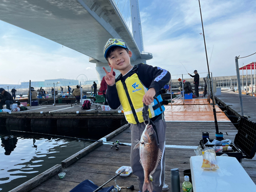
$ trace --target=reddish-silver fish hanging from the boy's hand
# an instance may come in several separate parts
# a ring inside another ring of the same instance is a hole
[[[144,183],[142,192],[146,189],[153,192],[153,185],[150,181],[150,176],[155,173],[157,165],[159,164],[162,151],[158,146],[157,134],[152,125],[147,124],[143,131],[140,141],[137,140],[134,150],[140,150],[140,163],[144,171]]]

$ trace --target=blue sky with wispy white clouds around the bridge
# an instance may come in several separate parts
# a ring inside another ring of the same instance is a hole
[[[118,7],[131,29],[130,3]],[[204,34],[212,75],[236,75],[235,56],[256,52],[256,4],[243,0],[201,0]],[[197,0],[139,0],[144,51],[153,54],[147,64],[168,70],[177,79],[198,70],[208,71],[200,9]],[[239,59],[239,66],[256,61],[256,54]],[[70,70],[70,63],[76,69]],[[85,74],[96,79],[89,56],[0,20],[0,84],[76,79]],[[248,72],[250,73],[250,72]]]

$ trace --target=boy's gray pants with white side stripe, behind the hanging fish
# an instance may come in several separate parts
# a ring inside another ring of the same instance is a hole
[[[157,166],[156,172],[152,175],[153,177],[153,191],[162,191],[162,186],[164,184],[164,168],[165,168],[165,132],[166,123],[164,120],[160,119],[154,122],[157,128],[159,147],[162,151],[162,158]],[[131,166],[133,169],[133,174],[137,176],[140,191],[142,191],[142,186],[144,182],[144,172],[143,167],[140,164],[140,152],[138,149],[133,149],[137,144],[136,140],[140,140],[140,137],[145,129],[144,123],[131,124],[130,126],[132,132],[132,148],[131,148]]]

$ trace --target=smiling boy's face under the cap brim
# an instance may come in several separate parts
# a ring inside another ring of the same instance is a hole
[[[108,57],[109,66],[122,73],[122,71],[125,71],[131,66],[130,57],[132,57],[131,51],[127,53],[125,49],[118,47]]]

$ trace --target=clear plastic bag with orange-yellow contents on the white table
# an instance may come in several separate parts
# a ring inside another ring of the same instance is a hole
[[[205,170],[216,170],[219,168],[216,160],[216,153],[214,148],[208,147],[203,150],[203,164],[202,168]]]

